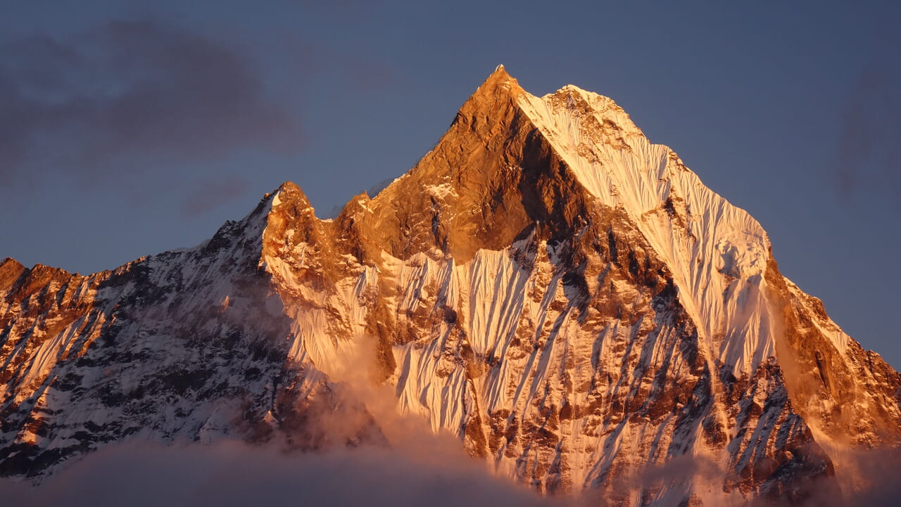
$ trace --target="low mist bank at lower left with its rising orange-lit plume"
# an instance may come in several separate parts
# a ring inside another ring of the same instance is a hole
[[[458,439],[433,434],[426,421],[396,412],[394,390],[371,383],[372,368],[378,368],[374,350],[347,352],[329,372],[340,403],[312,403],[308,425],[297,429],[323,436],[316,452],[289,450],[289,430],[259,445],[132,439],[70,462],[38,486],[0,479],[0,498],[59,507],[565,505],[493,475]],[[372,438],[350,439],[373,424],[379,431]],[[357,443],[349,447],[351,440]]]

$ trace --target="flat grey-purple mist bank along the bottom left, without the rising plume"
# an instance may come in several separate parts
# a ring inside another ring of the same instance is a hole
[[[0,494],[11,505],[59,507],[561,504],[492,476],[469,457],[438,463],[375,447],[301,454],[234,441],[111,446],[38,487],[0,480]]]

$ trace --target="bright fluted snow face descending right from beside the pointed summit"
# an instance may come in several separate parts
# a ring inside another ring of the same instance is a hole
[[[775,353],[761,276],[769,238],[760,223],[647,140],[610,98],[570,85],[541,98],[519,95],[518,104],[587,190],[625,210],[666,259],[714,358],[741,376]]]

